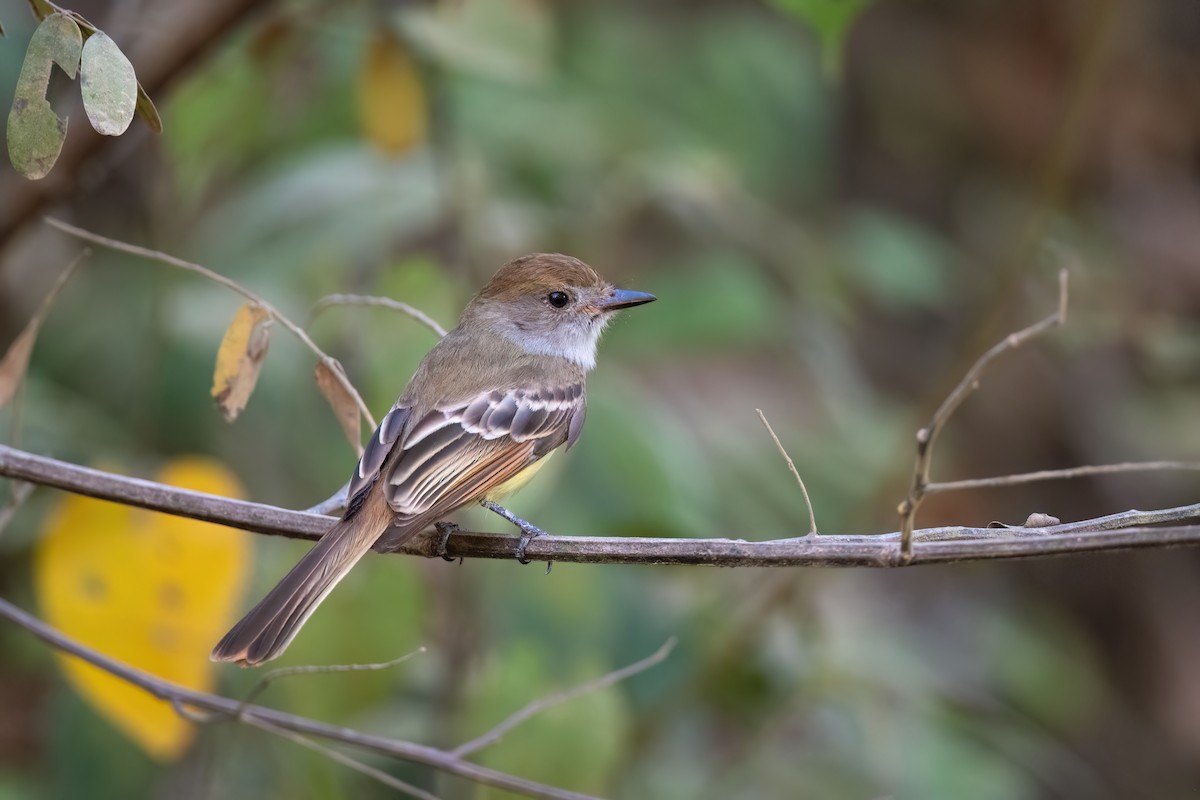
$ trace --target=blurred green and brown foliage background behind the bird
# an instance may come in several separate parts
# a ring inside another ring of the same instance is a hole
[[[882,533],[914,431],[974,356],[1052,308],[1067,263],[1069,326],[989,373],[935,476],[1200,452],[1194,0],[70,7],[143,76],[160,66],[139,52],[190,55],[160,70],[161,137],[136,121],[47,185],[0,164],[0,342],[78,252],[40,213],[197,260],[301,323],[322,295],[359,291],[450,325],[508,258],[563,251],[660,302],[607,335],[580,446],[514,498],[517,513],[558,534],[803,534],[762,408],[821,530]],[[227,19],[193,41],[185,17],[205,13]],[[7,109],[34,19],[2,0],[0,23]],[[415,70],[394,101],[366,88],[384,31]],[[77,88],[53,89],[70,108]],[[400,120],[391,152],[364,122],[380,113]],[[88,138],[74,114],[68,148]],[[7,440],[145,476],[202,455],[251,499],[326,497],[353,453],[295,341],[275,332],[235,423],[214,408],[238,305],[194,275],[97,252],[43,326],[19,433],[0,413]],[[311,331],[377,414],[434,341],[380,309],[328,311]],[[941,495],[918,522],[1195,500],[1193,474],[1120,475]],[[35,610],[38,542],[61,501],[37,491],[0,537],[0,593]],[[481,512],[463,522],[503,529]],[[233,612],[304,551],[247,541]],[[292,678],[263,700],[454,746],[674,636],[665,663],[480,759],[622,798],[1189,798],[1198,575],[1190,551],[550,576],[368,558],[286,663],[428,651],[383,673]],[[254,675],[216,680],[241,696]],[[200,729],[166,759],[116,730],[46,646],[0,628],[0,798],[390,793],[246,728]],[[440,796],[488,795],[379,764]]]

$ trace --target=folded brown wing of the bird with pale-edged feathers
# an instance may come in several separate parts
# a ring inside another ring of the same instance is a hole
[[[376,549],[398,547],[559,445],[572,445],[583,427],[584,408],[582,383],[480,392],[415,421],[397,404],[364,450],[350,486],[353,503],[380,481],[396,513]]]

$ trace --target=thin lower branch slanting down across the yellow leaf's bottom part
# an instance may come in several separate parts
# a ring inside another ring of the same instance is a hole
[[[407,762],[425,764],[426,766],[458,775],[478,783],[487,783],[488,786],[518,792],[532,798],[552,798],[553,800],[588,800],[589,798],[589,795],[566,792],[480,766],[479,764],[472,764],[436,747],[326,724],[317,720],[276,711],[262,705],[244,705],[229,697],[210,694],[180,686],[169,680],[163,680],[157,675],[136,669],[103,652],[92,650],[4,599],[0,599],[0,618],[25,628],[58,650],[82,658],[133,686],[145,690],[158,699],[169,702],[176,709],[182,705],[190,705],[222,715],[230,721],[240,720],[247,724],[254,724],[269,730],[283,729],[306,736],[317,736]],[[191,718],[191,715],[185,716]]]

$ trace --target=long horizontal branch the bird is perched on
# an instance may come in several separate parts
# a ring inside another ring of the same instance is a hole
[[[336,522],[332,517],[114,475],[35,456],[7,445],[0,445],[0,475],[151,511],[292,539],[320,539]],[[539,536],[529,542],[526,553],[533,560],[576,564],[894,567],[1200,545],[1200,525],[1146,527],[1193,519],[1200,519],[1200,504],[1158,511],[1126,511],[1049,528],[929,528],[913,531],[922,547],[907,560],[901,558],[900,533],[798,536],[757,542],[740,539]],[[440,542],[439,535],[426,530],[398,552],[434,558],[440,555]],[[514,542],[515,537],[506,534],[462,531],[450,539],[446,554],[451,558],[511,559]]]

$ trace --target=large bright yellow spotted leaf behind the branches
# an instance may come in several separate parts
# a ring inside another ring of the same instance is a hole
[[[178,458],[163,483],[240,497],[236,479],[204,458]],[[215,684],[212,643],[236,619],[250,534],[79,495],[47,519],[34,582],[47,622],[125,663],[200,691]],[[169,703],[71,656],[67,680],[158,759],[176,758],[194,728]]]

